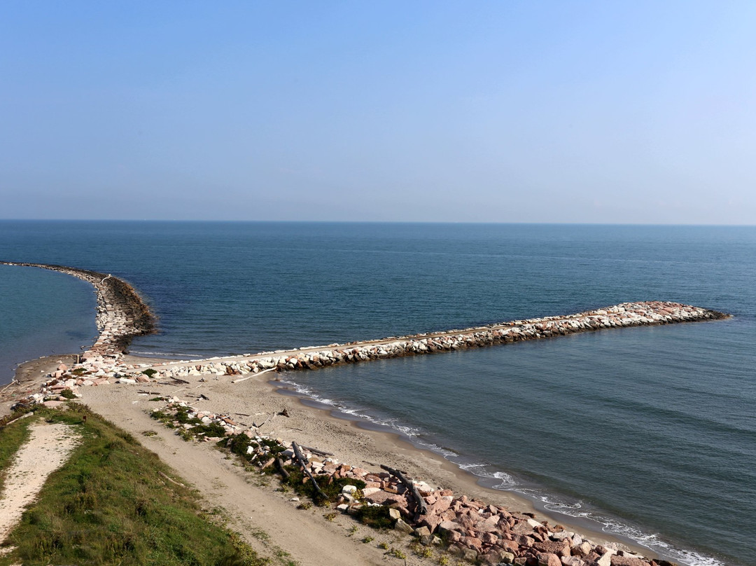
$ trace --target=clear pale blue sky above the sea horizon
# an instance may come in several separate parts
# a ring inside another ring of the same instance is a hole
[[[0,218],[756,224],[756,2],[0,0]]]

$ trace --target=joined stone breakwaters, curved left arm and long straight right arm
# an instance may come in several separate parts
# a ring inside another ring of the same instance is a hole
[[[48,393],[80,386],[135,383],[187,375],[246,375],[265,371],[319,369],[340,363],[367,362],[429,353],[464,350],[510,342],[538,340],[578,332],[631,326],[666,325],[729,318],[711,309],[665,301],[621,303],[584,313],[515,320],[475,328],[386,337],[378,340],[310,346],[209,359],[128,363],[123,354],[132,337],[154,331],[154,319],[147,305],[125,281],[86,269],[42,263],[10,263],[64,272],[88,281],[95,287],[98,300],[97,324],[100,331],[95,344],[82,354],[81,363],[72,369],[60,367],[36,393],[34,401]],[[148,369],[153,372],[144,372]],[[52,387],[52,389],[48,389]]]

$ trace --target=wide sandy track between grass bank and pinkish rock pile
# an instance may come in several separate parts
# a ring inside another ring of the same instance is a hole
[[[333,509],[314,505],[307,510],[297,509],[297,502],[290,500],[293,493],[274,491],[275,482],[244,472],[235,459],[228,459],[224,452],[209,443],[198,445],[181,440],[175,431],[147,415],[150,405],[156,408],[156,403],[147,403],[145,396],[135,390],[119,386],[88,389],[85,403],[91,409],[117,422],[156,452],[163,462],[200,491],[209,508],[222,508],[230,526],[242,533],[258,552],[271,558],[271,564],[290,564],[292,560],[300,566],[405,564],[403,560],[384,555],[386,551],[376,547],[380,535],[370,528],[359,527],[357,533],[349,536],[349,528],[355,521],[340,512],[334,514],[333,521],[327,521],[324,514]],[[142,434],[144,431],[155,434],[146,436]],[[376,536],[376,541],[362,543],[366,535]],[[389,531],[384,536],[392,544],[398,535]],[[413,566],[420,561],[408,557],[406,564]]]

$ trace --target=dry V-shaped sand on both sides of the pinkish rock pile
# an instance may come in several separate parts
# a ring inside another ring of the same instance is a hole
[[[380,464],[389,465],[407,471],[411,477],[426,480],[434,487],[445,487],[513,511],[534,511],[527,499],[514,493],[480,487],[471,474],[432,452],[398,440],[393,434],[364,430],[353,422],[331,417],[327,411],[304,406],[296,397],[276,393],[275,387],[267,381],[269,377],[252,377],[234,384],[231,383],[232,376],[206,375],[201,378],[188,376],[189,384],[186,385],[150,383],[84,387],[82,402],[134,434],[144,446],[156,452],[160,459],[200,490],[209,508],[225,509],[231,527],[243,533],[260,552],[275,555],[277,549],[284,549],[302,565],[404,564],[404,561],[386,556],[376,544],[385,540],[390,546],[400,548],[408,539],[393,532],[376,534],[376,531],[362,526],[359,526],[358,533],[348,536],[349,529],[357,524],[351,518],[339,515],[330,522],[324,518],[327,509],[314,506],[307,511],[297,509],[298,503],[290,501],[291,493],[274,489],[276,480],[267,480],[270,485],[263,486],[259,474],[243,471],[234,460],[228,459],[224,452],[211,444],[181,440],[174,431],[150,418],[148,412],[160,409],[164,404],[150,399],[172,394],[198,409],[230,413],[244,425],[265,423],[259,428],[260,434],[296,440],[304,446],[333,452],[340,462],[378,471]],[[149,393],[139,393],[140,390]],[[200,394],[207,399],[201,399]],[[287,409],[289,417],[277,414],[283,409]],[[157,434],[145,436],[144,431]],[[570,530],[585,531],[565,521],[558,522]],[[596,543],[618,542],[601,533],[586,534]],[[361,543],[367,535],[376,540],[370,544]],[[432,563],[404,550],[407,564]]]

